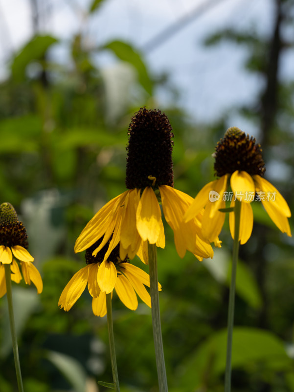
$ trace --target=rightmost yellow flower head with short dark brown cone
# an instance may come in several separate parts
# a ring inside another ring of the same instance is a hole
[[[269,214],[271,220],[281,230],[291,237],[291,230],[288,218],[291,217],[290,208],[269,181],[263,178],[265,165],[262,159],[262,149],[256,144],[253,137],[249,138],[237,127],[228,128],[224,139],[221,139],[213,154],[215,158],[214,169],[216,175],[220,177],[215,181],[206,184],[185,213],[184,220],[190,221],[201,211],[203,207],[204,216],[202,222],[202,232],[204,238],[209,242],[214,241],[222,230],[225,214],[220,209],[226,208],[224,193],[228,186],[231,186],[233,196],[241,201],[241,218],[239,241],[245,244],[253,228],[253,211],[250,205],[254,200],[255,193],[263,195],[260,200]],[[209,199],[210,192],[219,195],[218,200]],[[274,199],[267,195],[274,195]],[[251,195],[251,197],[249,196]],[[232,199],[230,207],[234,207],[235,201]],[[232,238],[234,238],[234,215],[229,213],[229,227]]]

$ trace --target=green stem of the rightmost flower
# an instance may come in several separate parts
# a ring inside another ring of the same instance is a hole
[[[231,360],[232,360],[232,338],[234,328],[234,310],[235,310],[235,287],[236,287],[236,271],[239,254],[239,231],[240,231],[240,215],[241,202],[236,200],[234,207],[235,215],[235,232],[232,258],[232,273],[230,294],[228,300],[228,316],[227,316],[227,342],[226,342],[226,373],[225,373],[225,392],[231,391]]]

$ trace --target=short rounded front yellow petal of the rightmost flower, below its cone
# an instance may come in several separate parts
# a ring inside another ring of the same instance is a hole
[[[251,203],[254,200],[255,185],[248,172],[239,172],[238,170],[233,172],[231,175],[231,188],[237,200],[245,203]]]

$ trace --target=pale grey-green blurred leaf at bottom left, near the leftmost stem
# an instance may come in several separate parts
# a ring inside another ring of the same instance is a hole
[[[46,358],[65,376],[75,392],[86,392],[87,375],[77,360],[56,351],[47,351]]]

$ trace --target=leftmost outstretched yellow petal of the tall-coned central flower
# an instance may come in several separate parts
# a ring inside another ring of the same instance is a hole
[[[74,251],[76,253],[89,248],[105,234],[106,228],[112,226],[112,230],[109,230],[109,237],[106,242],[109,240],[114,230],[113,217],[116,215],[117,210],[123,207],[122,200],[128,192],[129,191],[126,191],[123,194],[114,197],[94,215],[76,240],[74,245]]]

